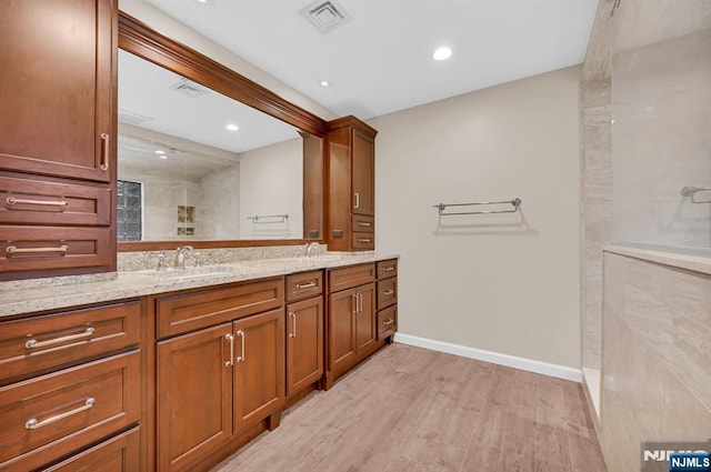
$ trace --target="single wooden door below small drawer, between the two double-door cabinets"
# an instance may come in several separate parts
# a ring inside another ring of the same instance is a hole
[[[323,374],[323,299],[287,305],[287,395],[298,393]]]

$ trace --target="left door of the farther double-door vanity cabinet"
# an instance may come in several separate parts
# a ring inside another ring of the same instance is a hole
[[[356,289],[329,297],[329,370],[356,361]]]

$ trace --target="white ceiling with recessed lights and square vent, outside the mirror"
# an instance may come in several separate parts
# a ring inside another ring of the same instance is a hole
[[[323,34],[299,14],[310,0],[148,1],[338,116],[361,119],[581,63],[598,6],[339,0],[352,21]],[[435,62],[443,44],[453,56]]]

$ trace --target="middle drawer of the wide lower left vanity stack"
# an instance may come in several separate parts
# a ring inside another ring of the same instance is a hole
[[[140,365],[132,351],[1,388],[0,469],[34,470],[137,423]]]

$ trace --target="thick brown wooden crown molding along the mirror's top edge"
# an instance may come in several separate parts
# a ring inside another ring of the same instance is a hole
[[[323,119],[122,11],[119,12],[119,48],[303,131],[321,137],[328,131]]]

